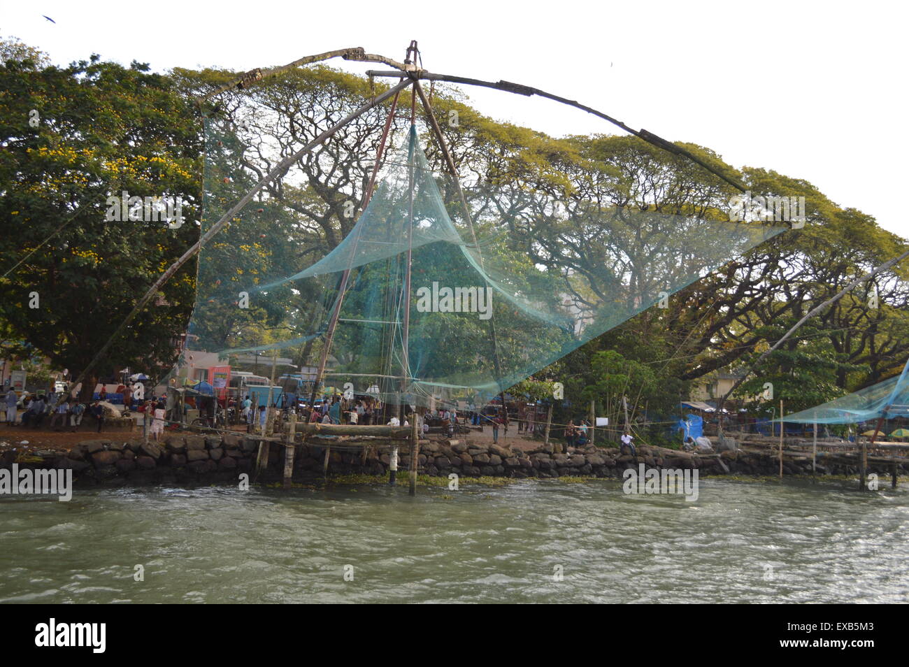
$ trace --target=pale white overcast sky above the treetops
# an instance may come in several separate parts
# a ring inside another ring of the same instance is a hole
[[[15,35],[58,64],[97,53],[156,71],[245,71],[347,46],[403,61],[416,39],[431,72],[504,79],[577,100],[634,128],[707,146],[735,167],[807,180],[836,204],[909,237],[901,205],[909,149],[903,3],[433,0],[400,7],[0,0],[0,35]],[[540,98],[469,95],[484,114],[555,136],[622,132]]]

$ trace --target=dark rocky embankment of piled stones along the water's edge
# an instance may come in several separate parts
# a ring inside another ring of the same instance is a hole
[[[362,442],[362,439],[361,441]],[[325,447],[331,446],[328,473],[384,475],[390,463],[387,440],[376,441],[367,448],[345,448],[345,438],[314,437],[296,445],[294,480],[307,481],[321,477]],[[239,473],[251,473],[259,443],[243,434],[224,436],[171,434],[161,443],[124,443],[113,438],[98,439],[75,445],[68,453],[45,453],[43,458],[16,462],[13,453],[5,453],[0,465],[20,463],[34,468],[72,469],[78,483],[207,483],[235,481]],[[260,482],[282,478],[284,445],[271,443]],[[404,472],[410,462],[409,443],[399,445],[398,470]],[[541,445],[531,452],[513,451],[496,444],[464,440],[421,441],[417,457],[422,474],[466,477],[503,476],[512,478],[553,478],[564,476],[622,477],[627,468],[644,463],[647,468],[698,469],[702,476],[715,474],[775,475],[779,462],[773,453],[724,452],[697,455],[660,447],[641,445],[634,459],[620,455],[612,447],[574,448],[569,453],[556,453],[554,445]],[[852,474],[854,466],[825,463],[818,460],[819,473]],[[869,472],[875,472],[870,466]],[[876,471],[887,473],[887,470]],[[903,471],[904,472],[904,471]],[[810,474],[810,457],[787,460],[784,473]]]

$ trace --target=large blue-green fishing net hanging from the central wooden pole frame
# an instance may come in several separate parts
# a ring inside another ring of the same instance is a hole
[[[203,233],[269,151],[218,118],[205,130]],[[316,205],[331,160],[306,159],[325,164],[292,165],[203,248],[190,345],[315,366],[336,311],[324,384],[386,403],[483,402],[785,229],[483,178],[459,191],[411,127],[343,233]]]

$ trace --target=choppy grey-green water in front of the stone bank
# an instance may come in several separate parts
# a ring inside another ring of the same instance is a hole
[[[7,496],[0,602],[909,601],[905,485],[846,484],[702,480],[694,503],[605,480]]]

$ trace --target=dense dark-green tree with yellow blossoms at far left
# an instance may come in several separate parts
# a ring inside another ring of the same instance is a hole
[[[195,240],[196,115],[167,76],[96,55],[66,67],[5,59],[0,82],[0,315],[15,339],[75,376],[135,295]],[[108,197],[124,191],[180,200],[184,224],[109,220]],[[86,394],[125,365],[156,374],[173,361],[193,269],[116,342]]]

